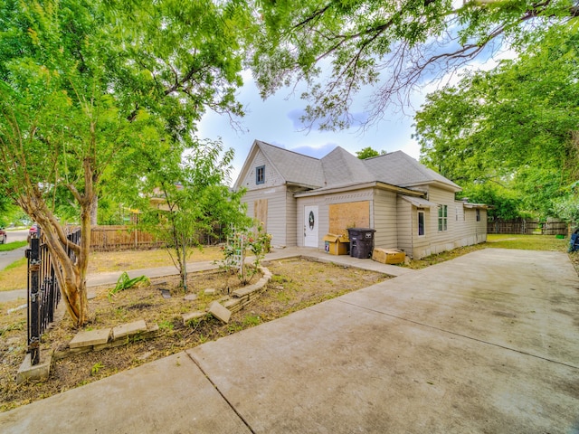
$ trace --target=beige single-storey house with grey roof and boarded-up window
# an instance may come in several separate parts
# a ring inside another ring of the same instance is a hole
[[[420,259],[487,240],[487,206],[402,151],[360,160],[341,147],[321,159],[255,140],[233,188],[273,246],[323,249],[327,233],[375,229],[375,247]]]

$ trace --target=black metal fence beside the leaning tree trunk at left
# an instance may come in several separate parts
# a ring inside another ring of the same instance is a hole
[[[42,231],[31,238],[26,250],[28,259],[28,353],[31,364],[40,362],[40,339],[46,327],[54,320],[54,311],[61,300],[61,288],[54,273],[57,265],[52,260],[48,246],[43,242]],[[81,230],[71,232],[69,241],[80,244]],[[74,259],[74,252],[67,248]]]

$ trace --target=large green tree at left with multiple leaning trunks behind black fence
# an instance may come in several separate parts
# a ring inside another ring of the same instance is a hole
[[[238,2],[0,1],[0,180],[43,228],[76,325],[101,180],[135,175],[131,156],[178,143],[205,109],[242,113],[250,23]],[[78,207],[80,246],[57,218],[62,197]]]

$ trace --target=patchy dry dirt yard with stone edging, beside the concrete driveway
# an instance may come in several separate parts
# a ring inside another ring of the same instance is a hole
[[[109,296],[111,287],[91,289],[96,297],[90,299],[92,320],[87,329],[144,319],[147,325],[157,323],[159,335],[147,340],[132,339],[128,344],[98,352],[61,356],[67,353],[68,343],[76,333],[65,317],[55,322],[43,337],[43,354],[54,351],[57,360],[52,361],[48,381],[41,383],[15,383],[15,374],[26,353],[26,310],[7,313],[8,309],[21,305],[22,300],[0,304],[3,313],[0,316],[0,411],[100,380],[388,278],[380,273],[306,259],[276,260],[264,262],[263,266],[273,274],[270,284],[255,302],[234,313],[227,325],[217,319],[185,325],[181,316],[204,309],[215,299],[224,297],[228,288],[233,291],[240,286],[236,276],[223,271],[191,274],[189,292],[197,295],[192,301],[186,301],[185,293],[176,288],[176,278],[154,279],[149,286],[129,288],[114,296]],[[205,295],[204,291],[211,288],[215,294]],[[161,289],[168,289],[171,297],[162,297]]]

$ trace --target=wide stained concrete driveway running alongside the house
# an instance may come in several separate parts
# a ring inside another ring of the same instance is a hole
[[[2,413],[0,431],[577,433],[578,317],[565,253],[479,250]]]

